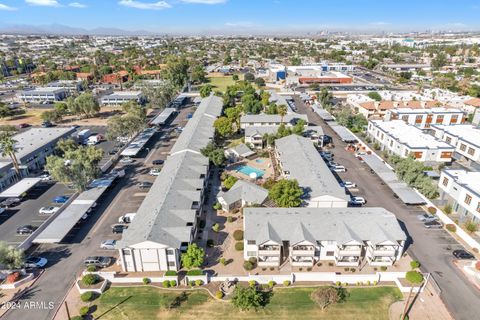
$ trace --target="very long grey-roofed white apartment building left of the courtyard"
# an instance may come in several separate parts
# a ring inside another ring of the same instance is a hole
[[[213,139],[223,101],[203,99],[118,242],[123,271],[180,269],[180,255],[197,234],[210,168],[200,152]]]

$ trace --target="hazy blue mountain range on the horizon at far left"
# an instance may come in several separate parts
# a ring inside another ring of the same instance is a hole
[[[139,36],[139,35],[155,35],[156,33],[136,30],[128,31],[118,28],[95,28],[95,29],[83,29],[69,27],[61,24],[49,24],[49,25],[5,25],[0,24],[0,33],[7,34],[51,34],[51,35],[68,35],[68,36],[80,36],[80,35],[93,35],[93,36]]]

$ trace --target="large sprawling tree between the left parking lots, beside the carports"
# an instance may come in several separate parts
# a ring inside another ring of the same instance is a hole
[[[79,192],[84,191],[92,179],[100,175],[98,163],[103,150],[94,146],[66,150],[62,156],[47,157],[45,168],[53,179],[65,184],[73,184]]]

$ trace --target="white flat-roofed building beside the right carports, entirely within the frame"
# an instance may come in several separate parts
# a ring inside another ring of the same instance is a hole
[[[402,158],[413,155],[417,161],[433,164],[452,161],[453,146],[403,120],[369,120],[367,133],[381,150]]]

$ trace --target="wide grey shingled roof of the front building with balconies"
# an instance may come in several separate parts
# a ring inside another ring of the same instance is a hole
[[[383,208],[245,208],[245,239],[257,245],[268,240],[402,241],[407,237],[395,215]]]

